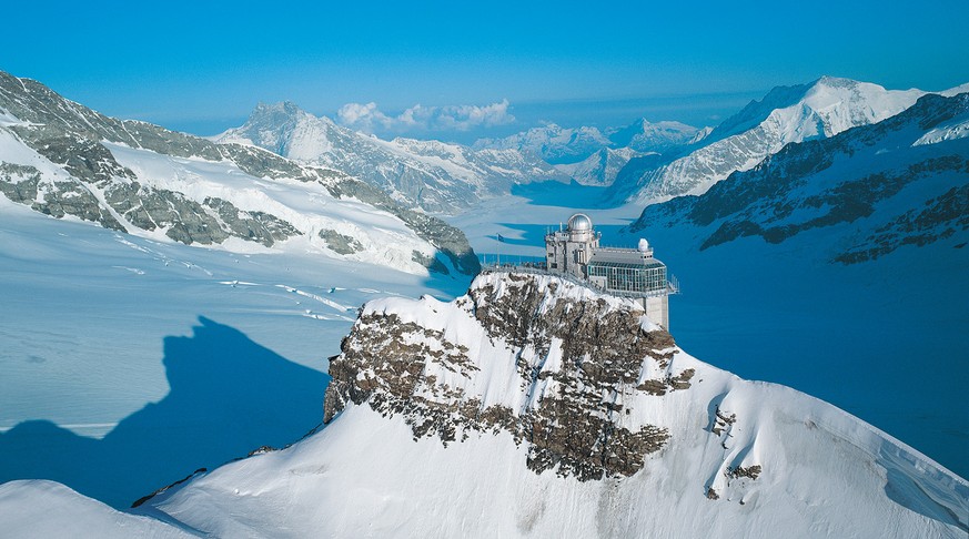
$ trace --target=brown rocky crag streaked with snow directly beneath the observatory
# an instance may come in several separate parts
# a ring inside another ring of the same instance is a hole
[[[455,306],[464,319],[441,327],[365,307],[331,359],[324,420],[366,403],[404,416],[415,439],[447,445],[471,431],[505,430],[527,445],[534,471],[581,480],[632,476],[667,443],[667,429],[627,405],[689,388],[694,372],[675,368],[673,337],[634,301],[496,272],[478,277]],[[506,395],[480,391],[486,379],[503,380]]]

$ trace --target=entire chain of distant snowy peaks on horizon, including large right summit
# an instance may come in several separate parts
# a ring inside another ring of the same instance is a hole
[[[958,89],[947,94],[952,93]],[[923,94],[824,77],[775,88],[716,128],[645,119],[608,129],[548,123],[503,139],[481,139],[471,146],[383,141],[293,103],[261,104],[244,125],[213,140],[340,170],[430,212],[461,213],[514,185],[544,181],[606,186],[599,205],[646,205],[703,193],[790,142],[877,123]]]

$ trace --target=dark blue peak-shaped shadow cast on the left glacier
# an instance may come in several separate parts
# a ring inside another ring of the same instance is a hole
[[[191,337],[165,337],[169,394],[103,439],[50,421],[0,435],[0,482],[51,479],[127,508],[196,470],[283,447],[316,428],[330,376],[290,362],[242,332],[199,317]]]

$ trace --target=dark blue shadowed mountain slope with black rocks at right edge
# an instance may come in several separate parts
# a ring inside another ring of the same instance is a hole
[[[699,196],[647,206],[632,232],[706,231],[699,248],[760,236],[781,243],[832,227],[819,248],[852,264],[940,240],[969,241],[969,93],[928,94],[906,111],[840,134],[786,145]]]

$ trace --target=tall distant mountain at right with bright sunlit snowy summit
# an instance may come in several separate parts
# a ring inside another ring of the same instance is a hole
[[[679,155],[646,170],[622,171],[608,196],[648,204],[701,194],[730,173],[753,169],[790,142],[829,138],[879,122],[911,106],[925,93],[831,77],[778,87]]]

